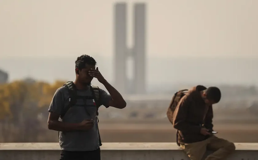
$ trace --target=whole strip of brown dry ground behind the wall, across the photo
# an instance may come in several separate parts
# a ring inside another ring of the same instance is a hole
[[[46,126],[46,125],[45,125]],[[102,142],[175,142],[176,130],[168,120],[104,120],[99,123]],[[257,142],[258,123],[238,122],[221,123],[214,122],[216,134],[220,138],[232,142]],[[10,133],[10,132],[9,132]],[[34,134],[33,134],[34,133]],[[58,142],[57,131],[43,128],[37,133],[33,131],[31,136],[17,133],[9,134],[8,138],[1,142]],[[17,137],[18,136],[18,137]]]

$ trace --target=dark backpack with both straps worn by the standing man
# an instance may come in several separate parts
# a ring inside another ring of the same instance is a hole
[[[76,104],[76,101],[77,99],[79,98],[79,96],[77,96],[77,91],[76,91],[76,87],[74,85],[74,83],[72,81],[68,81],[64,84],[65,87],[68,88],[68,92],[69,92],[69,101],[70,103],[68,104],[68,106],[63,110],[62,114],[60,115],[60,120],[62,121],[62,118],[65,116],[66,112]],[[99,115],[99,107],[100,107],[100,102],[99,102],[99,99],[100,99],[100,94],[99,94],[99,87],[98,86],[93,86],[93,85],[90,85],[90,90],[92,91],[92,96],[85,96],[84,97],[84,100],[85,99],[93,99],[94,102],[96,103],[96,107],[97,107],[97,110],[96,110],[96,120],[97,120],[97,130],[98,130],[98,133],[99,133],[99,145],[102,146],[102,143],[101,143],[101,139],[100,139],[100,132],[99,132],[99,126],[98,126],[98,123],[99,123],[99,118],[98,118],[98,115]],[[84,101],[85,102],[85,101]],[[85,110],[87,113],[88,111]],[[58,132],[58,137],[59,137],[59,134],[60,132]]]

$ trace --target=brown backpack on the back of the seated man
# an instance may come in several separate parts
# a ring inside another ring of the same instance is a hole
[[[171,100],[170,105],[169,105],[168,110],[167,110],[167,118],[170,121],[170,123],[172,123],[172,124],[173,124],[173,114],[174,114],[174,111],[175,111],[179,101],[181,100],[181,98],[186,95],[187,91],[188,91],[187,89],[179,90],[172,97],[172,100]],[[180,146],[180,144],[178,143],[178,130],[177,130],[176,136],[177,136],[176,137],[177,138],[177,141],[176,141],[177,145]]]

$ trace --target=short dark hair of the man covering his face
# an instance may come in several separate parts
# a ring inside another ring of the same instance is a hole
[[[83,54],[80,57],[77,57],[77,59],[75,61],[75,68],[82,70],[83,68],[85,68],[85,64],[95,66],[97,64],[97,62],[91,56]]]

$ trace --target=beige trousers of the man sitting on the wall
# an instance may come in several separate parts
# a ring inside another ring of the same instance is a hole
[[[206,149],[214,151],[205,160],[224,160],[235,149],[235,145],[225,139],[212,136],[204,141],[181,144],[180,147],[186,152],[191,160],[201,160]]]

